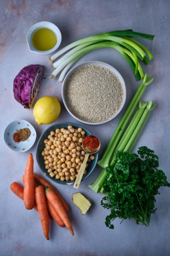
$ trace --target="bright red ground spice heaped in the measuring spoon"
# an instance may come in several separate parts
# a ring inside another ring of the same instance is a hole
[[[85,137],[82,143],[87,152],[95,152],[100,145],[99,139],[92,135]]]

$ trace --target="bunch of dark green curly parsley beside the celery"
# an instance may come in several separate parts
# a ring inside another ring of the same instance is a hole
[[[170,187],[167,177],[158,170],[159,160],[153,150],[146,146],[138,149],[138,154],[116,152],[117,164],[106,167],[108,173],[103,189],[107,196],[102,198],[101,205],[111,208],[105,224],[114,229],[111,221],[116,217],[125,220],[133,218],[136,224],[149,226],[150,215],[155,213],[154,203],[161,186]],[[121,221],[121,223],[122,223]]]

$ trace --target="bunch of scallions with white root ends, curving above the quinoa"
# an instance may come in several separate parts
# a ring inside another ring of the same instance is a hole
[[[51,57],[48,57],[50,63],[52,63],[59,56],[67,52],[52,64],[54,71],[50,77],[54,79],[62,70],[58,79],[59,82],[62,82],[69,68],[71,68],[71,66],[74,65],[74,63],[77,62],[86,53],[99,48],[111,47],[118,50],[127,60],[136,76],[136,80],[138,81],[143,79],[144,72],[138,58],[148,64],[153,58],[153,55],[144,45],[132,39],[132,37],[142,37],[145,39],[153,40],[154,36],[133,32],[132,29],[128,29],[111,31],[79,39],[65,46]]]

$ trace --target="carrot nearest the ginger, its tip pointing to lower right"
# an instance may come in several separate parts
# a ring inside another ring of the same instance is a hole
[[[68,219],[67,213],[64,209],[64,207],[61,204],[61,201],[59,200],[58,196],[55,194],[54,190],[51,188],[45,189],[45,195],[47,199],[50,201],[54,209],[57,211],[59,217],[64,222],[65,226],[68,228],[68,230],[71,232],[71,234],[74,236],[74,232],[72,229],[71,222]]]

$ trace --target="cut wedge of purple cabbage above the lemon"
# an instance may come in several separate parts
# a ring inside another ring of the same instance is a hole
[[[40,88],[43,79],[43,65],[28,65],[21,69],[14,79],[14,98],[24,108],[31,108]]]

